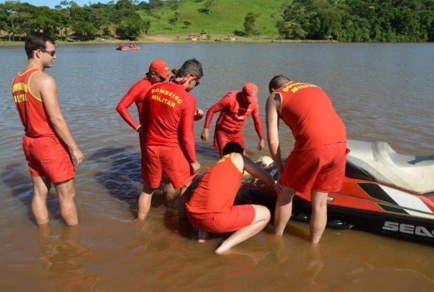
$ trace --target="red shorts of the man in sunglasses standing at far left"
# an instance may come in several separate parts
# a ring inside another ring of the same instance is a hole
[[[23,150],[32,177],[48,177],[52,183],[75,177],[71,153],[56,136],[23,136]]]

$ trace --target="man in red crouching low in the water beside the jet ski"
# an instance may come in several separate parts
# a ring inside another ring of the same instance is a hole
[[[271,175],[242,155],[243,151],[238,143],[227,143],[223,156],[205,172],[185,204],[188,220],[199,229],[199,242],[203,242],[206,232],[235,231],[217,248],[218,255],[252,237],[270,221],[270,211],[264,206],[234,206],[244,170],[266,182],[270,189],[275,187]]]

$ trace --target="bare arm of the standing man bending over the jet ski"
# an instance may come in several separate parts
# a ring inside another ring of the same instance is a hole
[[[278,94],[273,93],[268,97],[265,110],[268,148],[270,149],[271,158],[273,158],[274,164],[279,174],[281,174],[283,164],[279,145],[280,96]]]

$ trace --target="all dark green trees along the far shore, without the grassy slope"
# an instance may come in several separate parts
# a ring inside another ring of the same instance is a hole
[[[211,13],[214,0],[204,2]],[[44,31],[56,38],[81,40],[97,36],[135,38],[148,32],[151,22],[140,17],[144,10],[152,18],[169,7],[175,11],[169,23],[179,21],[181,0],[114,0],[107,4],[84,6],[63,0],[54,9],[19,1],[0,4],[0,31],[9,40],[25,36],[30,30]],[[287,39],[333,39],[338,41],[433,41],[434,0],[292,0],[281,7],[276,19],[279,34]],[[199,9],[200,10],[200,9]],[[256,18],[249,12],[244,19],[245,35],[260,34]],[[191,24],[184,21],[185,26]],[[270,24],[274,25],[274,24]],[[240,33],[240,31],[236,31]]]

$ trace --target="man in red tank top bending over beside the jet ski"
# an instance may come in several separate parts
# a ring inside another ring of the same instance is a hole
[[[327,223],[327,194],[342,188],[346,163],[345,125],[318,86],[283,75],[269,83],[266,105],[268,147],[279,171],[275,234],[282,236],[295,192],[311,192],[310,240],[316,244]],[[282,165],[279,118],[292,131],[295,145]]]

